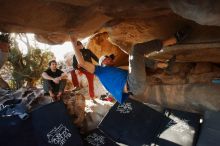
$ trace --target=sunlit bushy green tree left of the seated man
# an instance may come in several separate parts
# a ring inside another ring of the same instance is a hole
[[[26,45],[27,54],[21,51],[16,39]],[[8,56],[8,61],[13,67],[12,76],[16,82],[16,88],[22,87],[25,82],[27,83],[26,87],[35,87],[43,70],[48,66],[48,61],[52,58],[54,58],[52,52],[42,51],[36,43],[30,44],[26,34],[16,34],[12,38],[12,46]]]

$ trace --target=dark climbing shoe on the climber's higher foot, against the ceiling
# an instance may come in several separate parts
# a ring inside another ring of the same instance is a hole
[[[180,29],[179,31],[177,31],[174,36],[177,40],[177,43],[182,42],[183,40],[185,40],[192,32],[192,27],[189,25],[184,26],[182,29]]]

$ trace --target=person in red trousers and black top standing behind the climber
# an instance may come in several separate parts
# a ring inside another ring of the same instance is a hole
[[[88,61],[90,63],[92,63],[92,59],[94,61],[96,61],[98,63],[99,59],[98,57],[89,49],[85,49],[85,47],[83,46],[83,44],[80,41],[76,42],[76,45],[79,47],[80,52],[84,58],[85,61]],[[71,71],[71,77],[72,77],[72,83],[75,87],[75,90],[80,89],[79,86],[79,82],[76,76],[76,70],[78,70],[80,73],[83,73],[88,81],[88,86],[89,86],[89,95],[90,97],[93,99],[95,97],[95,93],[94,93],[94,74],[91,74],[90,72],[88,72],[87,70],[85,70],[84,68],[78,66],[78,62],[76,60],[76,56],[73,56],[73,68],[74,70]]]

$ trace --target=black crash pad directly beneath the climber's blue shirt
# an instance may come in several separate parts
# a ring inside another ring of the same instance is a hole
[[[162,113],[128,99],[121,105],[116,103],[98,127],[114,141],[129,146],[150,145],[165,119]]]

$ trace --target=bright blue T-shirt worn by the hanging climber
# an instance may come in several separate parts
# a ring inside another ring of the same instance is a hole
[[[128,98],[128,94],[123,93],[128,71],[112,66],[95,66],[94,74],[120,104]]]

